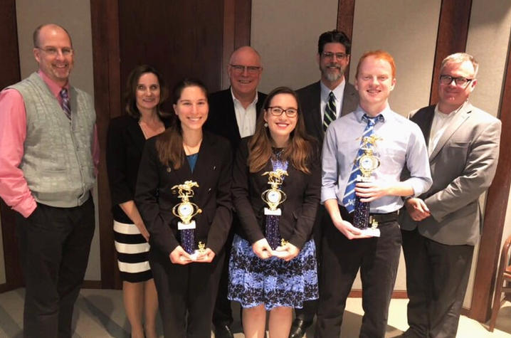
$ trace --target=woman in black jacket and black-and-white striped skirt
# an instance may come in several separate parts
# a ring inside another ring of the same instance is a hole
[[[165,117],[169,115],[162,111],[167,92],[156,69],[139,65],[127,80],[127,115],[111,120],[108,127],[107,171],[115,248],[126,315],[135,338],[157,337],[158,298],[147,258],[149,233],[133,199],[145,140],[163,132],[168,125]]]

